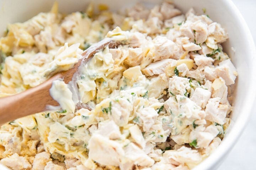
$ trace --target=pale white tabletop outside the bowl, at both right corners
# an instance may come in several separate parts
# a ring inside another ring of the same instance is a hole
[[[233,0],[238,7],[256,42],[256,0]],[[256,56],[255,56],[256,57]],[[241,134],[236,145],[228,154],[218,170],[255,170],[256,169],[256,112]]]

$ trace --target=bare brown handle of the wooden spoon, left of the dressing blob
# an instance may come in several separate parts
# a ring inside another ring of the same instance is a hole
[[[59,103],[50,96],[49,89],[54,80],[62,78],[62,74],[56,74],[43,84],[27,91],[0,98],[0,125],[33,113],[43,112],[47,104],[58,106]]]

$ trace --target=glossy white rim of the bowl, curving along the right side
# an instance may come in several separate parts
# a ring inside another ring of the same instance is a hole
[[[242,30],[244,30],[245,32],[245,39],[247,39],[247,49],[250,49],[249,53],[252,58],[252,62],[256,64],[256,49],[254,39],[251,35],[249,27],[247,26],[247,23],[245,22],[244,17],[232,0],[223,0],[223,5],[229,6],[229,10],[231,9],[230,12],[232,16],[236,18],[236,20],[241,24]],[[252,72],[256,73],[256,67],[252,68]],[[217,169],[223,163],[222,161],[225,159],[228,151],[234,147],[235,142],[241,136],[241,133],[244,131],[249,121],[249,117],[254,111],[254,103],[256,103],[256,90],[250,90],[254,89],[254,84],[256,83],[256,76],[250,74],[249,78],[251,79],[251,84],[249,85],[249,89],[247,90],[250,91],[250,96],[247,96],[247,100],[251,102],[245,103],[245,105],[243,106],[243,114],[240,114],[237,117],[237,120],[234,123],[233,127],[230,128],[230,131],[228,132],[227,136],[222,140],[220,145],[205,160],[203,160],[200,164],[194,167],[193,170]]]

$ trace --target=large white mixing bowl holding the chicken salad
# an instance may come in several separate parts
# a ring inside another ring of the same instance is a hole
[[[86,9],[90,0],[57,0],[61,13],[71,13]],[[110,10],[133,6],[139,0],[97,0],[95,3],[107,4]],[[47,12],[54,0],[0,0],[0,32],[3,33],[8,23],[24,22],[37,15]],[[144,0],[148,6],[158,4],[161,0]],[[256,84],[256,51],[254,41],[240,12],[231,0],[174,0],[177,8],[186,12],[193,7],[197,13],[202,14],[203,8],[213,21],[220,23],[228,32],[229,40],[224,43],[224,51],[228,53],[238,70],[236,91],[234,93],[233,123],[226,133],[220,146],[207,159],[199,164],[195,170],[216,169],[231,150],[244,130],[249,116],[254,111],[255,84]],[[233,47],[233,48],[231,48]],[[4,170],[0,165],[0,169]]]

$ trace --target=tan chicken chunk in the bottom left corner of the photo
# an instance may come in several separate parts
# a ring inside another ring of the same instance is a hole
[[[0,163],[15,170],[26,170],[31,169],[31,164],[24,157],[20,157],[17,153],[10,157],[3,158]]]

